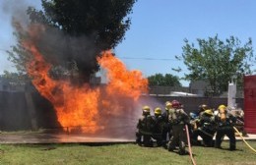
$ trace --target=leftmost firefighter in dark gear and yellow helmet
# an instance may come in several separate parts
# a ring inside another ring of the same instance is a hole
[[[154,119],[151,116],[151,108],[144,106],[143,114],[137,124],[136,142],[139,145],[153,146],[152,135],[154,130]]]

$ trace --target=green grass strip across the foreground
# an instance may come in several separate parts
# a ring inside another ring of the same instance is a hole
[[[256,148],[256,141],[249,141]],[[242,141],[237,150],[193,146],[197,165],[254,165],[256,153]],[[0,144],[1,165],[186,165],[192,164],[189,155],[180,156],[162,147],[141,147],[136,144],[90,146],[72,144]]]

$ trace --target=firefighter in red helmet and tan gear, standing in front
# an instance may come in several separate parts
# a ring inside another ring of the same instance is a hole
[[[185,125],[189,124],[189,117],[177,100],[173,100],[171,104],[173,109],[169,110],[168,120],[172,128],[172,137],[167,144],[167,148],[169,151],[173,151],[178,143],[179,154],[183,155],[186,153]]]

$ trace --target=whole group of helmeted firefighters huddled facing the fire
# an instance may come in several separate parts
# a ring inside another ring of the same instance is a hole
[[[160,107],[155,108],[154,115],[151,115],[150,106],[146,105],[142,110],[136,132],[136,142],[139,145],[154,146],[156,141],[157,145],[169,151],[174,151],[178,147],[178,153],[183,155],[187,153],[187,137],[190,138],[192,145],[221,148],[226,136],[229,138],[229,150],[236,149],[233,129],[236,118],[228,113],[224,105],[220,105],[217,111],[214,111],[206,104],[202,104],[197,111],[188,115],[183,110],[183,105],[173,100],[165,102],[163,112]],[[189,136],[186,134],[186,128]],[[199,137],[202,140],[199,140]]]

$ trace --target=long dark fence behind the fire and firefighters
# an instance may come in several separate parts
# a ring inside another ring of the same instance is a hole
[[[144,95],[140,98],[140,100],[151,99],[157,100],[162,106],[165,101],[176,99],[184,105],[186,112],[197,110],[198,105],[203,103],[213,108],[227,103],[227,98],[218,97]],[[236,103],[243,109],[243,98],[237,98]],[[0,91],[0,131],[37,130],[39,128],[57,127],[60,127],[60,125],[57,122],[52,105],[48,100],[41,97],[39,93]]]

